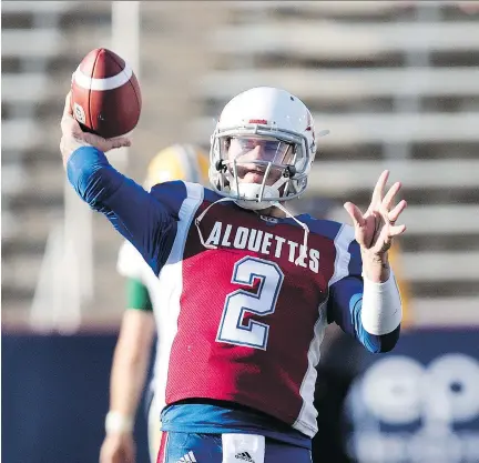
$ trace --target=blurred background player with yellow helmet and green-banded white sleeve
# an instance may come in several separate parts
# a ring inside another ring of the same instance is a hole
[[[147,167],[144,189],[172,180],[201,183],[208,181],[208,158],[197,147],[174,144],[160,151]],[[125,241],[120,248],[118,271],[126,278],[128,310],[116,342],[110,384],[110,411],[106,435],[100,453],[101,463],[135,461],[134,419],[150,364],[155,321],[160,319],[162,294],[159,280],[136,249]],[[156,356],[157,358],[157,356]],[[156,366],[147,397],[149,447],[152,463],[160,449],[160,413],[163,407],[155,395]]]

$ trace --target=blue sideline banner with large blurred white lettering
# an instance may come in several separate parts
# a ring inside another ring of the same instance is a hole
[[[347,401],[359,463],[479,462],[479,330],[418,330],[368,355]]]

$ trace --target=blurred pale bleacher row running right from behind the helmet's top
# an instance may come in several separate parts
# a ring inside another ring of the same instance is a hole
[[[298,73],[302,79],[298,80]],[[203,98],[218,101],[231,94],[267,82],[281,84],[293,93],[302,92],[309,102],[400,97],[467,97],[479,92],[476,68],[418,69],[252,69],[223,70],[200,81]],[[323,89],[323,91],[320,90]]]

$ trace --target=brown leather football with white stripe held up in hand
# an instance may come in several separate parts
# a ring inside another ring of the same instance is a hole
[[[88,53],[73,72],[71,104],[82,130],[103,138],[124,135],[140,119],[140,85],[122,58],[98,48]]]

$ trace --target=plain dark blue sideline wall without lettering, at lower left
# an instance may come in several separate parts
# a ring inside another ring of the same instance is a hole
[[[98,463],[116,334],[2,334],[1,461]],[[136,463],[147,463],[144,406]]]

